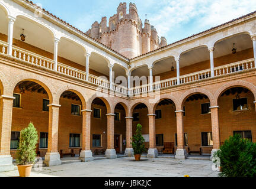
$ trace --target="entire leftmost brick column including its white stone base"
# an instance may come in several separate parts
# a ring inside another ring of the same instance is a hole
[[[15,97],[0,96],[0,172],[14,170],[10,155],[12,103]]]

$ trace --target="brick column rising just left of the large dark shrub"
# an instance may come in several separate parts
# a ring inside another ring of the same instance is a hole
[[[219,106],[210,107],[212,119],[212,135],[213,135],[213,154],[220,148],[220,131],[219,131]]]

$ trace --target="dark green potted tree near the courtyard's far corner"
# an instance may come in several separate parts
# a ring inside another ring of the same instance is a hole
[[[145,139],[142,136],[142,125],[138,124],[135,135],[133,135],[132,142],[131,142],[136,161],[140,161],[140,156],[142,155],[142,152],[146,150],[144,142],[145,142]]]

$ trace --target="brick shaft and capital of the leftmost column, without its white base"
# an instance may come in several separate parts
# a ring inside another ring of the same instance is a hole
[[[12,103],[14,97],[0,97],[0,155],[10,154]]]

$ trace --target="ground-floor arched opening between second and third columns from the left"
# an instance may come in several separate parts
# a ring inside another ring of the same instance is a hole
[[[59,99],[58,151],[60,158],[79,157],[82,150],[82,100],[75,91],[66,90]]]

